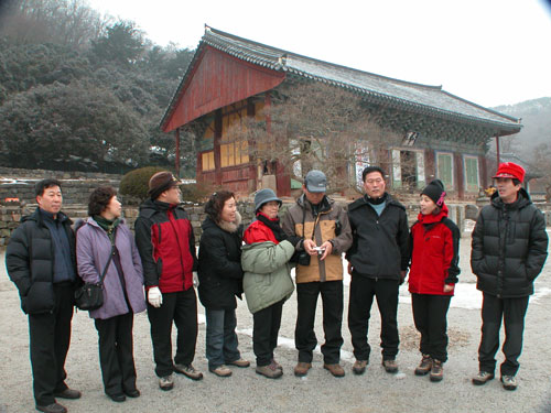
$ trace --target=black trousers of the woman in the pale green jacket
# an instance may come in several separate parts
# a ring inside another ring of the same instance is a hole
[[[268,366],[273,359],[284,302],[282,300],[252,314],[252,351],[259,367]]]

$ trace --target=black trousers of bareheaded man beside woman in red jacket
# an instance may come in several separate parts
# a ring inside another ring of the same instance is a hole
[[[369,317],[374,296],[381,317],[382,359],[393,360],[398,354],[398,280],[370,279],[353,272],[350,300],[348,303],[348,328],[352,335],[354,356],[357,360],[369,360],[371,348],[367,343]]]

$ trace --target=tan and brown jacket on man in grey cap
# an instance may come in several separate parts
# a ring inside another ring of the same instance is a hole
[[[296,265],[296,283],[343,280],[342,254],[352,246],[352,230],[348,216],[341,206],[324,196],[320,211],[314,217],[312,204],[303,194],[289,207],[281,226],[289,236],[313,239],[316,246],[325,241],[333,244],[333,251],[325,260],[320,261],[318,257],[312,257],[310,265]],[[299,242],[295,249],[304,251],[303,242]]]

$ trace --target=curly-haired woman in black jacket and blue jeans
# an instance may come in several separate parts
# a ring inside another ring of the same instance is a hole
[[[231,376],[226,365],[249,367],[241,359],[236,334],[236,296],[241,298],[241,216],[234,193],[214,193],[205,205],[201,236],[199,300],[206,314],[208,370],[218,377]]]

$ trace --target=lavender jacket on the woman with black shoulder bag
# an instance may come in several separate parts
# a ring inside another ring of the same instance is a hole
[[[115,247],[119,252],[120,267],[122,268],[125,290],[117,271],[117,265],[111,260],[104,278],[104,305],[91,309],[91,318],[107,319],[118,315],[145,311],[143,295],[143,273],[140,254],[136,247],[132,232],[121,221],[115,232]],[[111,253],[111,241],[107,232],[94,220],[88,218],[86,224],[76,232],[76,257],[78,275],[84,282],[97,283],[104,272],[105,265]],[[125,295],[128,297],[128,304]]]

